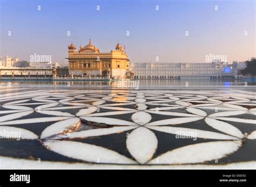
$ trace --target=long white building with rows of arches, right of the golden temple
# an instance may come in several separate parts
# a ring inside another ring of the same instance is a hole
[[[241,66],[241,65],[239,65]],[[136,79],[172,78],[228,78],[237,75],[234,68],[224,62],[212,63],[131,63]]]

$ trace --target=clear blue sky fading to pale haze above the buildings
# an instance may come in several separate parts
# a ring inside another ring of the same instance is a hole
[[[159,62],[199,63],[210,54],[232,62],[256,56],[255,1],[0,3],[0,56],[29,61],[30,55],[51,55],[53,62],[66,62],[71,41],[79,49],[90,38],[100,52],[114,50],[119,40],[132,62],[156,62],[158,56]]]

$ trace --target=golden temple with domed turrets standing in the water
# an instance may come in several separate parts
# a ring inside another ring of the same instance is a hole
[[[100,52],[92,45],[91,40],[86,46],[68,46],[69,74],[86,77],[125,78],[130,70],[130,60],[122,46],[117,44],[116,50]]]

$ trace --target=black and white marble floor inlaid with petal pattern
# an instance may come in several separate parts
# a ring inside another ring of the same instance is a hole
[[[253,169],[255,96],[245,90],[0,90],[0,168]]]

